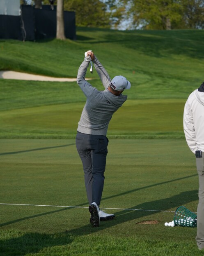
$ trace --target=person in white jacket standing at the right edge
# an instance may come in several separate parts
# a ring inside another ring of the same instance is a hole
[[[195,154],[199,176],[197,206],[197,246],[204,249],[204,82],[190,94],[183,113],[183,129],[187,144]]]

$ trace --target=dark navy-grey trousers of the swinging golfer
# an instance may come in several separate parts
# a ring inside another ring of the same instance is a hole
[[[85,187],[89,204],[100,205],[103,193],[108,138],[77,132],[76,148],[83,163]]]

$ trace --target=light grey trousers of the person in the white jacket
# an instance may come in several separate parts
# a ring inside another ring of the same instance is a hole
[[[202,157],[196,158],[196,166],[199,177],[199,201],[197,206],[197,246],[204,248],[204,152]]]

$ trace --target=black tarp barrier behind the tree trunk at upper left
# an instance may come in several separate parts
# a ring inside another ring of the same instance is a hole
[[[21,5],[21,16],[0,15],[0,38],[18,40],[38,40],[56,37],[56,7],[49,5],[35,9],[31,5]],[[75,12],[64,11],[64,33],[66,38],[76,39]]]

